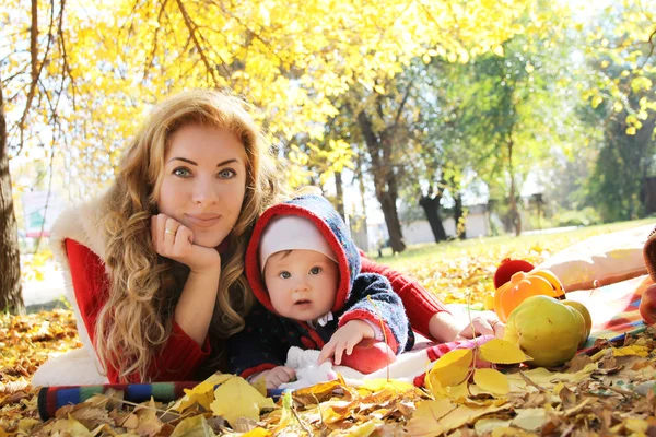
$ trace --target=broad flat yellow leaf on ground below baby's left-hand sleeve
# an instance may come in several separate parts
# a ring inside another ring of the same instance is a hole
[[[271,398],[265,398],[244,378],[233,377],[223,382],[214,391],[214,402],[210,409],[216,416],[222,416],[231,424],[237,417],[259,418],[261,409],[274,409]]]

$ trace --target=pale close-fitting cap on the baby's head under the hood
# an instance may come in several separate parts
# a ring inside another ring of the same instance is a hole
[[[311,220],[297,215],[282,215],[271,218],[262,232],[259,244],[260,271],[265,271],[267,260],[273,253],[294,249],[314,250],[337,262],[335,251]]]

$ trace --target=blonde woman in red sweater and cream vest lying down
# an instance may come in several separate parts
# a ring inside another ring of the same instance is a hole
[[[224,340],[255,302],[244,275],[253,225],[285,198],[248,109],[212,91],[163,101],[108,192],[59,217],[51,245],[84,347],[42,366],[34,386],[192,380],[201,365],[221,368]],[[362,271],[390,280],[420,333],[458,334],[415,282],[364,257]]]

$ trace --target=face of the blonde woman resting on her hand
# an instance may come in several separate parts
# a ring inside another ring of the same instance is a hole
[[[160,213],[194,233],[194,244],[216,247],[230,234],[246,192],[246,152],[231,132],[189,125],[177,130],[164,156]]]

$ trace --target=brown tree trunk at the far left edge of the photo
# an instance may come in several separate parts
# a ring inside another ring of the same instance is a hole
[[[14,215],[9,173],[9,150],[4,97],[0,78],[0,311],[25,312],[21,294],[19,227]]]

